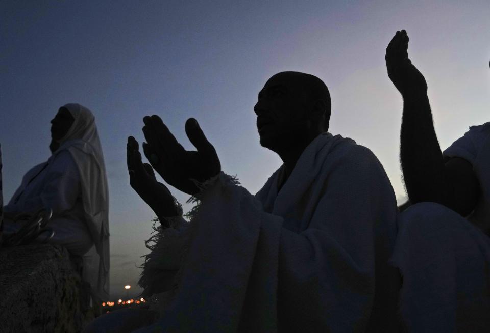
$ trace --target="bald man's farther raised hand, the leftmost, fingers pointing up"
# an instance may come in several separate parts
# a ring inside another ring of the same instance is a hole
[[[126,153],[131,187],[153,209],[160,222],[163,223],[163,217],[178,215],[174,197],[157,181],[151,165],[142,163],[138,142],[132,136],[128,137]]]

